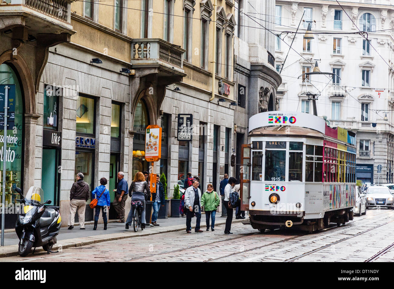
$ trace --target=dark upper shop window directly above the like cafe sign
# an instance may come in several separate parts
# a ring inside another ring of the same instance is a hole
[[[61,87],[44,85],[43,127],[45,129],[58,130],[59,96],[61,95]]]

